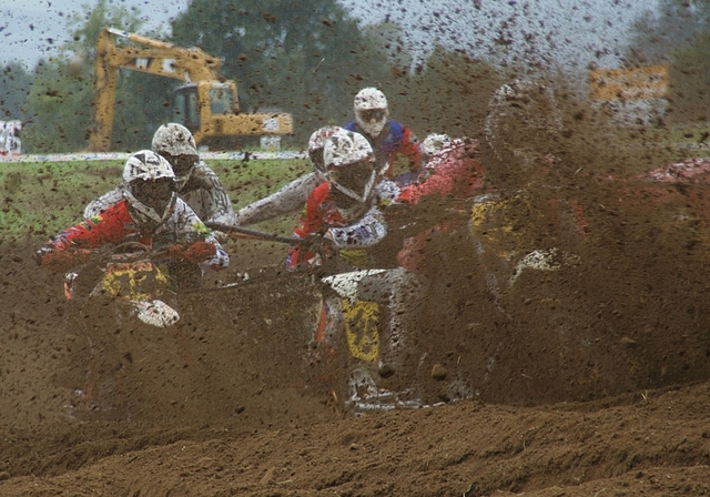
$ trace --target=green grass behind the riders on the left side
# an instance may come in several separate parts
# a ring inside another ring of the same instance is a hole
[[[220,176],[235,209],[310,170],[307,160],[206,163]],[[122,161],[0,163],[0,239],[43,240],[78,223],[91,200],[119,184],[122,168]],[[282,224],[268,227],[287,229]]]

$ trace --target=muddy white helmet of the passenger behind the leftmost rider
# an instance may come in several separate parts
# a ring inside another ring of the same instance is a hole
[[[197,145],[190,130],[176,122],[161,125],[153,134],[153,151],[173,166],[180,187],[184,186],[200,161]]]

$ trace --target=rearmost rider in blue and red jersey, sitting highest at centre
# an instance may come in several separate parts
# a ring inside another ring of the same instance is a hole
[[[345,129],[363,134],[373,150],[377,169],[386,178],[394,175],[394,162],[398,154],[408,159],[409,172],[395,180],[405,185],[414,181],[422,168],[422,146],[412,130],[388,119],[387,98],[376,88],[364,88],[357,92],[353,102],[355,120],[345,124]]]

